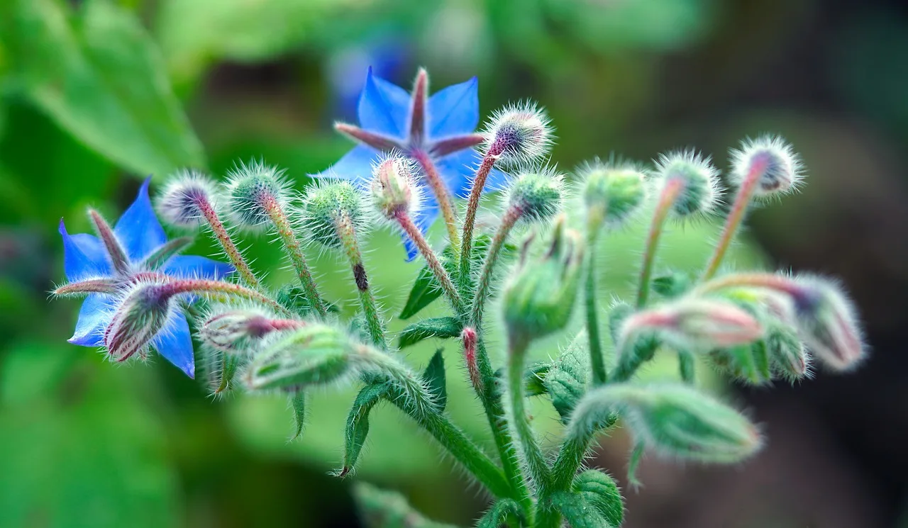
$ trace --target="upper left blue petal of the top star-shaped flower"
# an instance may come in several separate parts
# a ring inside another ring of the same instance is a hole
[[[369,68],[360,94],[358,114],[362,128],[402,139],[407,133],[410,93],[373,75]]]

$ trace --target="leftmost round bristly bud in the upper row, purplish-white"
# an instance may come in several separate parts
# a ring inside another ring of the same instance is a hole
[[[158,199],[164,221],[179,227],[197,227],[205,221],[202,207],[215,202],[213,181],[201,172],[183,170],[173,175]]]

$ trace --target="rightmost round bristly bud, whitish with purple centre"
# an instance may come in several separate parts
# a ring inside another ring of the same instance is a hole
[[[754,195],[768,197],[796,189],[804,177],[801,161],[792,146],[778,136],[746,140],[731,152],[729,180],[741,186],[748,175],[758,172]]]

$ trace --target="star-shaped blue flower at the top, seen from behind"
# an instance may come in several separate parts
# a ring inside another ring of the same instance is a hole
[[[481,161],[474,147],[483,141],[476,133],[479,123],[479,83],[473,77],[466,83],[453,84],[428,97],[429,78],[420,70],[412,93],[372,74],[360,93],[357,109],[360,126],[339,122],[335,128],[360,144],[344,155],[327,171],[313,174],[317,178],[370,180],[372,163],[386,152],[401,152],[416,161],[425,178],[426,160],[432,163],[442,181],[455,196],[466,197],[470,179]],[[486,186],[497,189],[504,174],[492,171]],[[439,216],[439,203],[426,193],[419,214],[413,221],[425,232]],[[407,259],[416,257],[415,244],[404,237]]]

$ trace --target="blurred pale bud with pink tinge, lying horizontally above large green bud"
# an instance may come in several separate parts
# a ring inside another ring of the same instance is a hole
[[[696,352],[749,344],[762,335],[763,328],[732,303],[681,298],[627,318],[618,337],[618,349],[624,350],[648,332],[656,333],[672,347]]]

